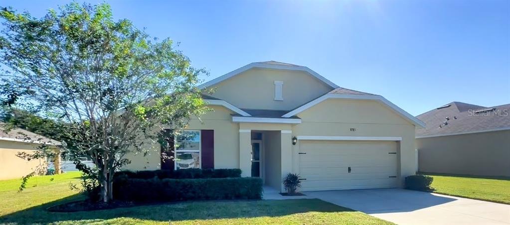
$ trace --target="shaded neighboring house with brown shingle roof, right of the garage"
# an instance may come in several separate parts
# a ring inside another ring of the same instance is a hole
[[[417,118],[419,171],[510,177],[510,104],[451,102]]]

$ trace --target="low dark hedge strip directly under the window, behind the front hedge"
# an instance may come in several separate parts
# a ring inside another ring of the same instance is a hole
[[[206,179],[206,178],[236,178],[241,177],[240,169],[187,169],[187,170],[156,170],[156,171],[120,171],[115,177],[135,179]]]

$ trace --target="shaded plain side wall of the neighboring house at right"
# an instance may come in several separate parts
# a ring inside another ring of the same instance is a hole
[[[510,177],[510,130],[417,138],[419,171]]]

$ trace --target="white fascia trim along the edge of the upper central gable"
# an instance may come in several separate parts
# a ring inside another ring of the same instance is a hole
[[[329,81],[328,79],[324,78],[323,76],[319,75],[318,73],[316,73],[315,71],[311,70],[310,68],[308,67],[305,67],[305,66],[298,66],[298,65],[294,65],[294,64],[289,64],[289,63],[281,63],[281,62],[276,62],[276,61],[267,61],[267,62],[258,62],[258,63],[250,63],[246,66],[243,66],[239,69],[236,69],[230,73],[227,73],[225,75],[222,75],[222,76],[219,76],[219,77],[216,77],[208,82],[205,82],[203,83],[202,85],[199,85],[198,88],[199,89],[204,89],[204,88],[207,88],[207,87],[211,87],[213,85],[216,85],[216,83],[219,83],[223,80],[226,80],[228,78],[231,78],[231,77],[234,77],[246,70],[249,70],[249,69],[252,69],[252,68],[265,68],[265,69],[276,69],[276,70],[295,70],[295,71],[304,71],[304,72],[308,72],[310,75],[312,75],[313,77],[315,77],[316,79],[326,83],[326,85],[330,86],[331,88],[338,88],[337,85],[335,85],[335,83]]]

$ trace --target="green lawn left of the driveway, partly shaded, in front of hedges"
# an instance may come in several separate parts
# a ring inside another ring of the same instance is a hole
[[[185,202],[74,213],[45,211],[49,206],[83,198],[68,187],[69,182],[78,183],[78,177],[78,173],[38,177],[21,193],[17,192],[19,180],[0,181],[0,223],[392,224],[317,199]]]

